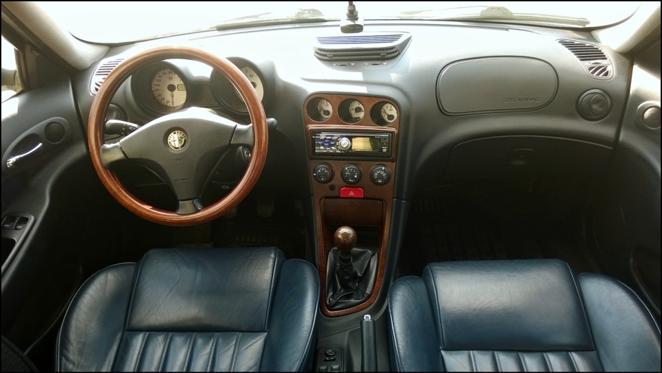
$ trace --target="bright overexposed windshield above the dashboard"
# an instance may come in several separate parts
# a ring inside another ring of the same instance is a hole
[[[370,21],[488,21],[556,27],[599,27],[623,21],[638,2],[592,1],[354,1]],[[158,36],[272,23],[341,21],[348,1],[48,1],[41,6],[79,39],[121,43]]]

